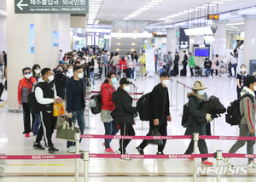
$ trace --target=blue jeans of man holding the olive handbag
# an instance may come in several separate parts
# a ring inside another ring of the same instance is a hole
[[[84,134],[85,130],[85,119],[84,119],[84,110],[81,109],[80,111],[73,111],[72,112],[72,120],[73,124],[76,124],[76,121],[78,120],[79,129],[81,131],[81,134]],[[69,126],[72,126],[72,121],[69,119]],[[80,139],[79,143],[81,143],[82,139]],[[72,141],[67,141],[67,148],[70,146],[75,146],[76,143]]]

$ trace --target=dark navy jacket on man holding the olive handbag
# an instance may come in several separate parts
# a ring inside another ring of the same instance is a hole
[[[83,89],[83,95],[85,98],[84,81],[80,79]],[[67,112],[84,110],[85,100],[79,100],[79,88],[77,87],[73,77],[69,78],[66,82],[66,100],[67,100]],[[82,102],[82,108],[77,106],[77,103]]]

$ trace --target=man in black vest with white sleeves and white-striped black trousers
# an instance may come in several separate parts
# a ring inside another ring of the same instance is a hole
[[[43,134],[45,139],[45,145],[49,146],[49,153],[56,153],[59,150],[55,148],[52,142],[52,111],[54,103],[61,103],[62,100],[57,96],[54,80],[54,72],[49,68],[44,68],[41,71],[42,77],[39,78],[38,84],[35,89],[35,97],[38,102],[37,109],[40,111],[42,119],[41,127],[39,128],[37,139],[33,145],[34,149],[44,150],[44,147],[40,144]]]

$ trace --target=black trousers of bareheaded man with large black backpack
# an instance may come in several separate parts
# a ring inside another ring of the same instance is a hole
[[[154,121],[149,121],[149,131],[148,134],[151,130],[153,130],[154,128],[157,128],[159,133],[161,134],[161,136],[167,136],[167,121],[166,119],[164,121],[160,122],[160,125],[158,126],[154,126]],[[147,136],[148,136],[147,134]],[[166,139],[163,139],[164,144],[163,145],[158,145],[158,151],[164,151],[165,146],[166,146]],[[141,143],[141,145],[139,145],[139,147],[141,149],[144,149],[146,146],[148,146],[147,143],[147,139],[144,139],[143,142]]]

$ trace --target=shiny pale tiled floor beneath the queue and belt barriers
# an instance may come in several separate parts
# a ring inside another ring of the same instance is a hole
[[[184,128],[181,127],[181,114],[183,108],[183,86],[178,85],[177,96],[177,80],[179,82],[186,83],[189,87],[193,86],[195,80],[201,79],[207,85],[208,95],[216,95],[220,98],[221,102],[227,106],[230,101],[236,99],[236,78],[228,78],[225,75],[222,77],[173,77],[173,97],[172,105],[176,105],[178,99],[178,110],[176,106],[170,107],[172,113],[172,122],[168,123],[169,135],[182,135],[184,134]],[[99,90],[102,80],[96,80],[96,89]],[[154,87],[154,77],[143,77],[143,80],[137,79],[136,81],[138,91],[145,90],[148,93]],[[116,86],[118,84],[116,83]],[[169,83],[169,91],[171,83]],[[9,88],[10,89],[10,88]],[[16,88],[15,88],[16,89]],[[186,93],[189,89],[186,90]],[[170,94],[170,93],[169,93]],[[170,94],[171,95],[171,94]],[[171,97],[171,96],[170,96]],[[6,100],[7,93],[3,93],[3,100]],[[187,101],[187,100],[186,100]],[[3,103],[0,103],[0,105]],[[87,113],[85,113],[87,115]],[[23,121],[21,113],[9,113],[7,107],[0,108],[0,153],[6,153],[9,155],[44,155],[48,154],[47,151],[35,151],[32,149],[32,135],[30,138],[25,138],[23,132]],[[88,126],[88,117],[85,116],[86,124]],[[224,121],[224,116],[216,119],[215,129],[213,129],[214,123],[212,122],[212,134],[215,135],[237,135],[238,128],[230,127]],[[85,134],[104,134],[103,124],[100,120],[100,116],[92,116],[90,126],[96,129],[86,129]],[[137,120],[137,124],[134,128],[142,128],[142,122]],[[144,122],[144,128],[148,128],[148,122]],[[214,130],[214,131],[213,131]],[[137,135],[145,135],[148,130],[136,129]],[[56,148],[60,149],[59,154],[67,154],[66,143],[64,140],[55,139],[53,135],[53,141]],[[91,153],[103,153],[102,147],[103,139],[83,139],[82,147],[85,151]],[[113,139],[113,149],[117,150],[119,147],[119,140]],[[141,140],[132,140],[127,147],[128,153],[136,153],[135,147],[139,145]],[[216,150],[229,151],[231,145],[235,141],[229,140],[207,140],[208,150],[213,153]],[[166,154],[182,154],[189,145],[189,139],[168,140],[166,143]],[[242,147],[238,153],[246,153],[246,146]],[[148,145],[144,150],[145,154],[155,154],[156,147],[154,145]],[[216,166],[216,160],[210,158],[213,162],[213,166]],[[205,167],[201,165],[200,159],[198,161],[199,167]],[[233,164],[236,167],[245,167],[247,159],[233,159]],[[52,181],[74,181],[74,160],[34,160],[34,161],[3,161],[0,162],[0,167],[4,168],[2,182],[52,182]],[[44,165],[42,165],[44,164]],[[221,164],[224,167],[224,163]],[[79,163],[79,173],[83,175],[83,162]],[[90,182],[153,182],[153,181],[175,181],[175,182],[189,182],[193,181],[192,176],[187,176],[192,173],[193,162],[188,159],[133,159],[131,162],[121,161],[119,159],[98,159],[92,158],[89,163]],[[247,168],[246,168],[247,169]],[[247,173],[256,173],[256,169],[249,168]],[[24,175],[28,176],[24,176]],[[33,176],[29,176],[32,175]],[[69,175],[68,175],[69,174]],[[55,175],[55,176],[50,176]],[[67,176],[65,176],[67,175]],[[122,176],[124,175],[124,176]],[[152,175],[152,176],[148,176]],[[160,176],[164,175],[164,176]],[[84,181],[80,176],[79,181]],[[215,176],[199,176],[197,181],[216,181]],[[254,177],[243,175],[236,176],[222,176],[222,181],[255,181]]]

